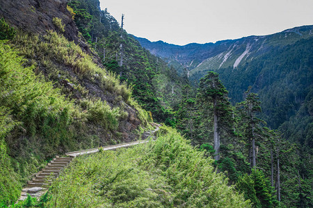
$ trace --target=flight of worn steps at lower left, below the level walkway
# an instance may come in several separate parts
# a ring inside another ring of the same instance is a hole
[[[56,156],[45,168],[36,173],[32,180],[27,182],[26,187],[22,189],[19,201],[27,198],[27,193],[32,197],[42,196],[47,190],[51,181],[58,177],[58,174],[72,161],[72,157]]]

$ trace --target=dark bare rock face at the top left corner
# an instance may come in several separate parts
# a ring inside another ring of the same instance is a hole
[[[78,30],[66,8],[67,0],[13,0],[0,2],[0,15],[11,25],[29,33],[45,34],[54,28],[53,17],[65,24],[65,37],[79,42]]]

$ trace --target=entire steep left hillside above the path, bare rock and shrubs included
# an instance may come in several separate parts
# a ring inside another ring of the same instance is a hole
[[[79,35],[67,1],[1,1],[0,17],[2,206],[55,155],[136,140],[151,117]]]

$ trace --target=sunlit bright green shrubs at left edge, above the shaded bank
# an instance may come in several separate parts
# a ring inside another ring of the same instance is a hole
[[[35,135],[38,129],[44,131],[47,125],[66,126],[72,103],[66,101],[52,83],[42,82],[35,76],[33,67],[22,67],[23,59],[9,46],[0,43],[0,51],[1,106],[12,110],[17,121],[24,123],[28,135]],[[60,119],[58,124],[57,119]]]

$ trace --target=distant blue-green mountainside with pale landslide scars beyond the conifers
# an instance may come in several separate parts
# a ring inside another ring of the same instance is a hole
[[[233,104],[243,101],[243,92],[252,86],[262,102],[262,118],[271,128],[279,128],[296,115],[312,89],[312,29],[301,26],[273,35],[186,46],[136,39],[179,73],[188,73],[195,85],[208,71],[219,73]]]

